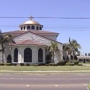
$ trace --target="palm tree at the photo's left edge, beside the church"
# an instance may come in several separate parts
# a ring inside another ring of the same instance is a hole
[[[0,31],[0,44],[1,44],[1,50],[2,51],[2,63],[4,63],[4,52],[5,52],[5,43],[15,43],[14,40],[12,39],[12,35],[10,34],[3,34]]]

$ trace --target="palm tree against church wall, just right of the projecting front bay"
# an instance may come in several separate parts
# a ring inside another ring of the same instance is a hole
[[[52,55],[52,60],[54,62],[54,53],[58,52],[59,53],[59,49],[58,49],[58,43],[56,42],[51,42],[51,46],[48,47],[48,51],[51,53]]]

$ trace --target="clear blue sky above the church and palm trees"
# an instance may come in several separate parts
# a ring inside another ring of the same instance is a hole
[[[28,17],[85,17],[90,18],[90,0],[0,0],[2,32],[19,30]],[[67,43],[69,37],[81,45],[81,54],[90,53],[90,19],[34,18],[43,30],[58,32],[57,40]]]

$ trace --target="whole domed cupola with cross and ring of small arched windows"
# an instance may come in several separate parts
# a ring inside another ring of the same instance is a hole
[[[29,20],[19,25],[20,30],[42,30],[43,25],[33,20],[34,17],[29,17]]]

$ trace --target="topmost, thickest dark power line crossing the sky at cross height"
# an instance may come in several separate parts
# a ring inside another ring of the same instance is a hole
[[[0,18],[29,18],[29,17],[0,17]],[[33,18],[45,18],[45,19],[90,19],[88,17],[33,17]]]

